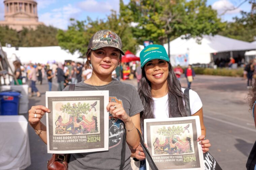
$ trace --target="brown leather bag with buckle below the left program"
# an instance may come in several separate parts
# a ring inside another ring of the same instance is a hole
[[[48,170],[68,170],[70,154],[53,154],[47,163]]]

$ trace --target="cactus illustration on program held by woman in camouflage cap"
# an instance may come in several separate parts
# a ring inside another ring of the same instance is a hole
[[[81,116],[81,114],[88,114],[87,111],[89,111],[90,105],[88,103],[78,102],[77,105],[75,103],[70,105],[70,103],[67,103],[65,105],[62,105],[60,110],[64,113],[67,113],[71,115],[72,117],[78,117]]]

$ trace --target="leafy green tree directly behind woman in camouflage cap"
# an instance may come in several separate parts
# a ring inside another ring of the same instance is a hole
[[[116,11],[112,11],[105,20],[92,20],[88,17],[84,21],[75,21],[74,19],[71,21],[67,31],[59,30],[57,38],[59,45],[72,54],[79,51],[81,56],[85,56],[90,38],[99,30],[111,30],[117,33],[122,40],[123,51],[136,52],[138,44],[133,38],[131,27]]]

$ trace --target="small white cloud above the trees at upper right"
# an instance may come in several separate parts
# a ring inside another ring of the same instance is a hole
[[[230,1],[228,0],[219,0],[213,3],[212,8],[218,11],[218,14],[237,14],[241,11],[240,8],[236,8]],[[232,10],[233,9],[233,10]]]

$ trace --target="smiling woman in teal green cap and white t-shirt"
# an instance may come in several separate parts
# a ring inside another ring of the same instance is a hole
[[[140,52],[142,78],[138,90],[140,99],[145,108],[141,112],[141,128],[144,119],[184,117],[184,90],[170,64],[166,50],[161,45],[149,45]],[[202,145],[203,153],[209,151],[210,141],[205,139],[205,126],[203,123],[202,102],[196,92],[190,90],[190,109],[192,116],[199,116],[201,136],[197,141]],[[141,147],[135,152],[138,160],[145,160]]]

